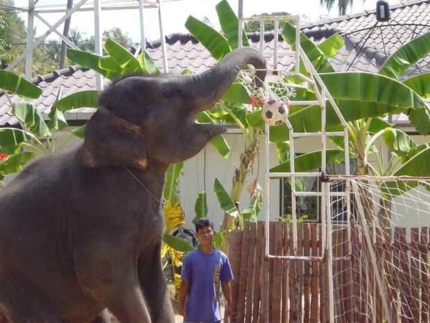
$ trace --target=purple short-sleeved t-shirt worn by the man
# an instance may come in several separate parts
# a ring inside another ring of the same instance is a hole
[[[189,280],[187,321],[221,322],[219,289],[221,281],[233,279],[227,256],[214,250],[205,254],[196,249],[182,260],[181,279]]]

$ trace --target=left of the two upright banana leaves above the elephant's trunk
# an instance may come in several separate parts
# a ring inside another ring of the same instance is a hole
[[[204,22],[189,16],[185,28],[211,53],[216,60],[221,60],[230,51],[228,42],[221,33]],[[236,27],[237,29],[237,27]],[[236,32],[237,33],[237,32]],[[237,42],[237,40],[236,40]]]

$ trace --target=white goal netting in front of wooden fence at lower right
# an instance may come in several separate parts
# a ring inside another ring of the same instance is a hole
[[[334,322],[430,322],[429,183],[350,183],[350,217],[345,197],[329,200]]]

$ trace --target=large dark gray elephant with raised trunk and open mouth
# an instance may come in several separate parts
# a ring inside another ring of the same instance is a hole
[[[0,307],[11,322],[109,322],[106,308],[123,323],[174,322],[160,263],[164,173],[225,132],[194,119],[247,63],[266,68],[243,48],[202,74],[114,81],[82,146],[38,158],[1,191]]]

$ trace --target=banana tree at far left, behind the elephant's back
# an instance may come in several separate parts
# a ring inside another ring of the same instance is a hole
[[[0,160],[0,179],[6,174],[19,172],[22,166],[28,163],[31,158],[49,154],[55,150],[62,149],[72,135],[80,135],[80,131],[73,131],[58,147],[55,146],[55,134],[67,127],[67,122],[63,112],[71,108],[76,99],[82,100],[88,97],[89,93],[77,94],[62,99],[62,88],[58,91],[57,98],[48,115],[49,122],[45,122],[39,110],[32,102],[14,102],[10,99],[10,94],[16,94],[28,99],[37,99],[42,94],[42,90],[12,72],[0,70],[0,88],[8,99],[12,107],[11,113],[23,125],[23,129],[1,128],[0,129],[0,153],[3,158]],[[91,95],[89,95],[91,97]],[[94,106],[94,96],[92,101],[86,105]],[[76,106],[76,104],[75,104]],[[25,150],[24,150],[25,149]],[[24,150],[24,151],[23,151]]]

